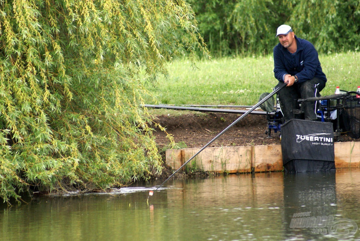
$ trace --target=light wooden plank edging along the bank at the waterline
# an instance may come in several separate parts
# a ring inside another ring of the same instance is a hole
[[[178,169],[200,148],[166,150],[166,164]],[[335,167],[360,167],[360,142],[335,142]],[[207,172],[274,172],[283,170],[281,145],[207,147],[184,169]]]

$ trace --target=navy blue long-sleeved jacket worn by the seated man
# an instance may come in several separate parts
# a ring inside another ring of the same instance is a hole
[[[297,50],[291,54],[280,43],[274,47],[275,78],[284,82],[285,74],[296,75],[299,83],[317,77],[327,81],[321,69],[318,51],[305,39],[295,36]]]

